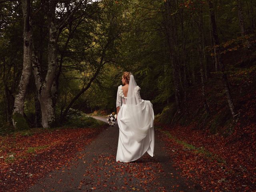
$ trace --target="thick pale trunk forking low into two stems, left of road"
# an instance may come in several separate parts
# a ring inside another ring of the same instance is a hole
[[[49,128],[55,122],[55,104],[58,92],[58,78],[57,76],[57,43],[60,33],[63,28],[70,22],[71,17],[76,10],[81,6],[82,0],[80,0],[73,10],[69,11],[60,22],[56,22],[56,5],[58,1],[48,1],[45,4],[44,9],[47,13],[49,41],[48,41],[48,69],[45,79],[42,78],[40,61],[34,50],[32,55],[32,66],[34,72],[34,78],[36,88],[38,90],[38,100],[41,106],[42,126]],[[68,4],[66,4],[68,6]]]

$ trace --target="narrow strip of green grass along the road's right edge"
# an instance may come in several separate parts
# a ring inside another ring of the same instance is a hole
[[[224,164],[226,163],[225,160],[219,158],[216,154],[212,154],[211,152],[209,152],[208,150],[206,150],[203,147],[196,148],[195,146],[193,146],[191,144],[188,144],[188,143],[186,143],[182,140],[179,140],[178,138],[172,136],[172,134],[170,134],[170,132],[168,132],[168,131],[163,131],[163,130],[160,130],[160,131],[163,132],[164,134],[166,134],[169,138],[173,139],[178,144],[183,145],[185,148],[190,149],[190,150],[194,150],[195,153],[204,154],[205,156],[207,156],[211,160],[216,160],[218,163],[224,163]]]

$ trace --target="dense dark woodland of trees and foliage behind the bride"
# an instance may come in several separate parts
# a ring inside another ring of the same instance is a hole
[[[236,90],[246,94],[255,69],[253,0],[0,5],[1,126],[56,126],[71,108],[115,111],[125,70],[156,114],[169,106],[186,116],[196,97],[205,122],[221,108],[229,109],[227,119],[240,117]]]

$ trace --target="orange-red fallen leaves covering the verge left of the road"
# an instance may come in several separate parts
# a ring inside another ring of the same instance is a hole
[[[103,129],[41,128],[30,130],[32,134],[25,136],[15,134],[0,137],[3,156],[0,158],[0,180],[4,180],[0,182],[1,190],[26,191],[37,178],[54,169],[60,169],[65,162],[74,158],[76,152],[89,144]]]

